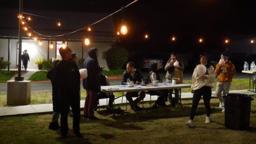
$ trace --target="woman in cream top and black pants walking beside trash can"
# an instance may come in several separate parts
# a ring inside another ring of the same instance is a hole
[[[200,55],[200,64],[206,67],[206,73],[203,75],[199,75],[195,68],[192,76],[191,92],[194,94],[193,94],[192,108],[190,111],[190,118],[189,118],[189,121],[187,122],[187,125],[189,127],[194,127],[194,117],[196,113],[196,108],[202,96],[203,96],[204,105],[206,109],[205,123],[211,122],[210,100],[212,95],[211,89],[213,88],[213,82],[215,78],[214,68],[207,63],[206,55]]]

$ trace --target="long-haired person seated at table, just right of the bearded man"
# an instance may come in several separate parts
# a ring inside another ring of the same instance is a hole
[[[162,79],[159,76],[158,70],[159,66],[157,65],[157,63],[153,63],[149,70],[148,82],[159,81],[160,83],[162,83]],[[155,102],[155,105],[153,105],[152,108],[158,109],[157,105],[165,106],[165,98],[167,98],[168,90],[149,91],[149,93],[150,95],[159,96]]]

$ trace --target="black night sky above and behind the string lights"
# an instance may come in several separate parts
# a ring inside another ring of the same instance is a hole
[[[48,1],[24,0],[24,9],[112,13],[132,1]],[[0,7],[18,8],[18,0],[1,1]],[[193,0],[161,1],[140,0],[125,9],[129,33],[120,36],[118,45],[137,51],[190,52],[222,49],[223,39],[255,35],[256,1]],[[114,15],[116,27],[122,13]],[[149,39],[143,35],[149,34]],[[177,37],[172,42],[171,36]],[[198,38],[204,43],[199,44]]]

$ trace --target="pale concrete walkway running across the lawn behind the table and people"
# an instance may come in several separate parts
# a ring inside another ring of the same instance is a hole
[[[247,90],[235,90],[230,91],[230,93],[242,93],[249,95],[256,95],[254,92],[249,92]],[[181,99],[191,99],[193,94],[190,92],[181,93]],[[212,97],[216,97],[215,92],[212,92]],[[157,96],[151,96],[151,100],[155,101]],[[146,95],[144,101],[150,101],[150,96]],[[122,98],[118,98],[115,100],[115,104],[120,104],[122,102]],[[125,105],[126,99],[123,97],[123,103]],[[100,106],[107,105],[106,99],[100,99]],[[84,100],[80,101],[80,107],[84,107]],[[16,107],[3,107],[0,108],[0,117],[2,116],[15,116],[15,115],[28,115],[28,114],[46,114],[52,112],[52,103],[42,104],[42,105],[26,105],[26,106],[16,106]]]

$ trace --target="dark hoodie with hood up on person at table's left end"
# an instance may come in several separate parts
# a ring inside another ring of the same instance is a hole
[[[92,47],[88,50],[89,57],[84,61],[83,67],[87,69],[88,76],[83,79],[83,87],[86,90],[100,91],[100,74],[102,68],[97,59],[97,49]]]

